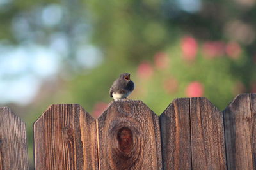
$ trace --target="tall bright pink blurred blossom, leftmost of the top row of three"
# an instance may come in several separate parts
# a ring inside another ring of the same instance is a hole
[[[181,40],[182,55],[186,60],[194,60],[198,51],[196,39],[191,36],[185,36]]]

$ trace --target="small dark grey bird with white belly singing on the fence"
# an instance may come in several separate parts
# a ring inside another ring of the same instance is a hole
[[[124,73],[119,76],[110,87],[109,94],[114,101],[125,99],[134,89],[134,83],[130,79],[129,73]]]

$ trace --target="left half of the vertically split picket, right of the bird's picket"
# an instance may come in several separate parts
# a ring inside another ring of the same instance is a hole
[[[192,169],[189,99],[175,99],[160,116],[163,169]]]

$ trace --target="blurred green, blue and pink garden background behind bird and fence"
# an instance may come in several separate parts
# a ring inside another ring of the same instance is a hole
[[[131,73],[157,115],[176,97],[223,110],[256,92],[255,0],[0,0],[0,106],[32,124],[50,104],[98,117]]]

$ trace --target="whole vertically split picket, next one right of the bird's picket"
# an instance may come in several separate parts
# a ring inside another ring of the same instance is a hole
[[[173,100],[160,122],[164,169],[225,169],[222,114],[207,98]]]

